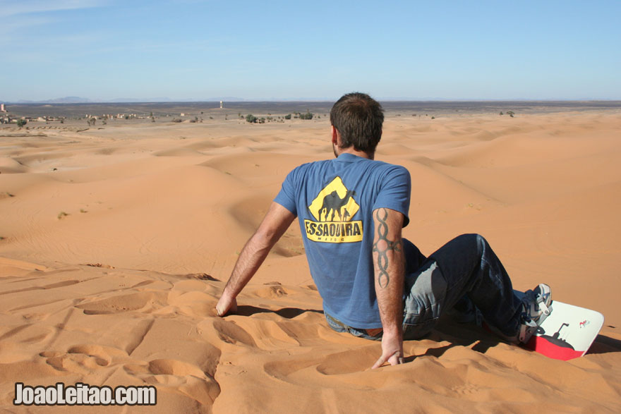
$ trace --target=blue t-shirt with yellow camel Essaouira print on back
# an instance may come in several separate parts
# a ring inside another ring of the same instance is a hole
[[[350,327],[382,327],[373,272],[373,210],[409,222],[410,175],[402,166],[354,154],[303,164],[275,202],[299,217],[310,274],[323,308]]]

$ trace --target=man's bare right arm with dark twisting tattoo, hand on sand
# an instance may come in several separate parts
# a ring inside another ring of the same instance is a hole
[[[404,215],[392,209],[373,210],[373,267],[382,335],[382,356],[373,368],[403,363],[403,285],[405,260],[401,229]]]

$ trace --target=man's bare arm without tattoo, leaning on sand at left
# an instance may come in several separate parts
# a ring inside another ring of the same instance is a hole
[[[243,246],[231,277],[224,287],[222,296],[216,305],[216,312],[224,316],[227,312],[237,310],[236,297],[267,257],[272,247],[289,228],[295,215],[277,202],[272,202],[270,209],[261,221],[259,228]]]

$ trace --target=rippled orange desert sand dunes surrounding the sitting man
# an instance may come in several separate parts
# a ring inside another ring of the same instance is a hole
[[[481,233],[514,288],[603,313],[567,362],[446,322],[371,371],[380,343],[327,327],[297,221],[215,316],[287,172],[332,157],[329,127],[1,129],[1,407],[23,409],[15,382],[83,382],[155,385],[131,410],[162,413],[621,411],[621,111],[387,114],[376,154],[411,173],[404,236],[423,253]]]

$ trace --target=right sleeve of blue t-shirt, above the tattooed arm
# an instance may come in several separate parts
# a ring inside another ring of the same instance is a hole
[[[410,222],[408,217],[410,209],[411,179],[410,173],[402,166],[395,166],[387,171],[380,193],[375,199],[373,209],[385,207],[393,209],[404,215],[403,226]]]

